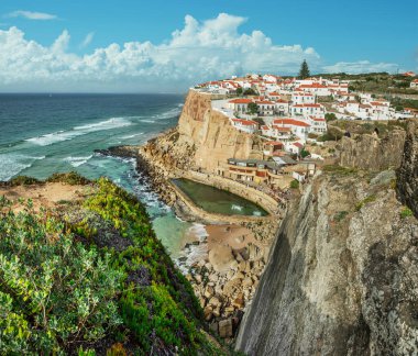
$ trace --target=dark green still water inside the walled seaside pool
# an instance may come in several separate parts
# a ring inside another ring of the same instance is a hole
[[[189,179],[173,179],[191,201],[201,209],[224,215],[265,216],[267,212],[257,204],[215,187],[199,183]]]

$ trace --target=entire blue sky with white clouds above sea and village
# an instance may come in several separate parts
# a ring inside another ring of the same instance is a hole
[[[304,59],[418,71],[418,1],[0,0],[1,92],[184,92]]]

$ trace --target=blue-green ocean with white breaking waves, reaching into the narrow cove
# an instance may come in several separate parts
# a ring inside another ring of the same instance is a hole
[[[70,170],[107,176],[146,205],[157,236],[176,256],[196,224],[178,220],[139,183],[134,159],[95,149],[145,143],[176,125],[183,102],[178,94],[0,94],[0,180]]]

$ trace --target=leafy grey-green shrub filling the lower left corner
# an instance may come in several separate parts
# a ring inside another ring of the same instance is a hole
[[[59,220],[30,204],[19,214],[3,210],[0,353],[58,353],[121,324],[116,291],[122,274],[110,263],[109,254],[76,243]]]

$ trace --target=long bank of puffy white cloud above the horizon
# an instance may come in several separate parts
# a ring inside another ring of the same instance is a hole
[[[251,71],[296,74],[302,59],[314,73],[396,69],[367,60],[322,68],[312,47],[274,44],[261,31],[240,33],[245,21],[226,13],[201,22],[187,15],[184,27],[162,44],[113,43],[82,56],[68,52],[67,31],[43,46],[16,27],[0,30],[0,90],[183,91],[199,81]]]

